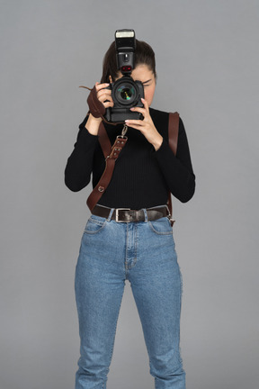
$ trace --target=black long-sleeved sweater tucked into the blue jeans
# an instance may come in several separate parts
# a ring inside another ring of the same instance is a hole
[[[111,208],[150,208],[166,204],[168,189],[183,203],[188,202],[195,190],[195,176],[183,121],[180,118],[177,153],[168,145],[168,113],[149,108],[149,113],[162,135],[159,149],[138,130],[129,127],[128,141],[116,160],[112,180],[98,204]],[[67,159],[65,183],[74,191],[80,191],[90,182],[93,186],[103,174],[105,160],[98,142],[98,135],[85,129],[85,122],[79,125],[74,150]],[[113,144],[121,134],[122,124],[116,126],[104,123]]]

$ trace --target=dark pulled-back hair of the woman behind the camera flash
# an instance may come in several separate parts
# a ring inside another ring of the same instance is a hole
[[[135,68],[141,64],[147,65],[156,78],[156,60],[154,50],[145,41],[138,41],[136,39]],[[114,81],[119,75],[116,63],[115,41],[112,42],[103,58],[103,76],[101,78],[101,84],[109,83],[110,75],[112,76],[112,81]]]

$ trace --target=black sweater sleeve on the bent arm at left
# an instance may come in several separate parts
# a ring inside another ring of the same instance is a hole
[[[78,192],[88,185],[93,171],[94,149],[98,136],[85,129],[86,120],[87,117],[79,125],[74,150],[67,159],[65,168],[65,184],[73,192]]]

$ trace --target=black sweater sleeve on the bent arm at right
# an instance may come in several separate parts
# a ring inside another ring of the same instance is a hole
[[[154,154],[170,192],[182,203],[188,202],[195,191],[195,176],[192,171],[188,140],[181,118],[176,156],[165,138]]]

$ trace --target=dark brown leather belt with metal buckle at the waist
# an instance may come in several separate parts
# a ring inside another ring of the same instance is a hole
[[[96,204],[92,213],[96,216],[101,216],[108,219],[112,208],[106,208]],[[167,206],[157,208],[147,208],[147,220],[154,221],[162,217],[168,216],[169,210]],[[145,213],[143,210],[131,210],[128,208],[115,208],[112,213],[112,220],[116,222],[145,222]]]

